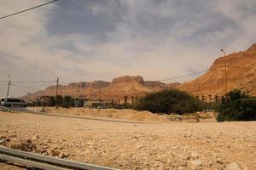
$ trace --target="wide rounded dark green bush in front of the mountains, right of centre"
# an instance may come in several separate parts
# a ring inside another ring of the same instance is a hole
[[[171,89],[155,94],[147,94],[137,101],[135,109],[153,113],[183,114],[200,111],[201,101],[186,92]]]

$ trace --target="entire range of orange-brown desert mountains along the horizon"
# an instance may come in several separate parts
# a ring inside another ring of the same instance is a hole
[[[60,85],[59,94],[83,99],[98,100],[101,98],[102,100],[120,99],[122,101],[125,96],[131,99],[131,97],[141,97],[163,89],[179,88],[209,101],[213,100],[216,95],[220,97],[225,94],[225,61],[228,91],[238,88],[247,94],[256,95],[256,44],[253,44],[247,51],[216,59],[205,75],[191,82],[163,83],[144,81],[140,76],[125,76],[114,78],[112,82],[72,82],[67,86]],[[55,86],[50,86],[45,90],[27,95],[26,99],[37,99],[43,95],[54,96],[55,88]]]

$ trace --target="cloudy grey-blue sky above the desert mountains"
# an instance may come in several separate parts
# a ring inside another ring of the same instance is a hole
[[[46,2],[0,0],[0,16]],[[0,96],[8,75],[10,95],[20,96],[56,76],[62,84],[157,81],[206,70],[220,48],[230,54],[255,43],[255,23],[255,0],[58,0],[0,20]]]

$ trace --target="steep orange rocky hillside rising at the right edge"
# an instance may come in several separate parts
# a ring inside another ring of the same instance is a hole
[[[214,61],[207,73],[191,82],[185,82],[179,89],[200,98],[213,100],[215,95],[225,94],[224,59],[227,63],[228,91],[239,88],[248,94],[256,95],[256,44],[246,51],[229,54]]]

